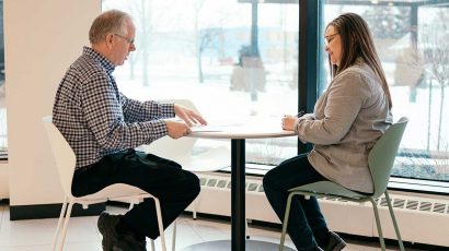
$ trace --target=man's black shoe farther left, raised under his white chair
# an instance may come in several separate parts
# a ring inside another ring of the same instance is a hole
[[[115,230],[115,226],[120,217],[122,215],[111,215],[106,212],[103,212],[99,217],[96,226],[103,236],[102,247],[104,251],[113,251],[114,243],[118,241],[119,235]]]

